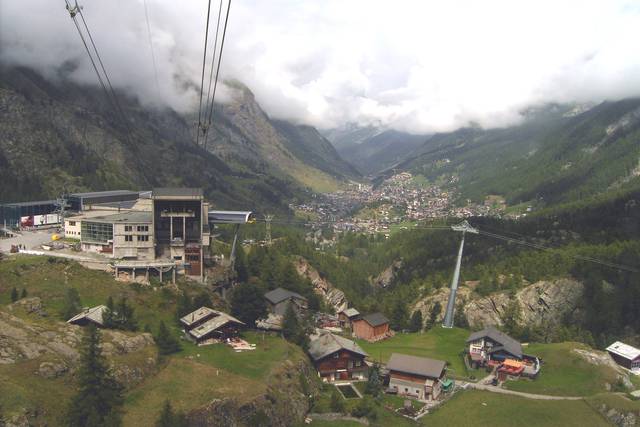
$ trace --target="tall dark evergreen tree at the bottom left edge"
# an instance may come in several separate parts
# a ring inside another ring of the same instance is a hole
[[[100,341],[100,331],[89,325],[80,349],[78,392],[67,412],[70,427],[121,425],[122,387],[109,372]]]

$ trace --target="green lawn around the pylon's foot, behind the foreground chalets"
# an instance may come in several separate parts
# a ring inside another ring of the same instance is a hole
[[[435,326],[428,332],[398,333],[392,338],[376,343],[357,341],[364,351],[369,353],[370,358],[381,363],[386,363],[392,353],[428,357],[449,362],[450,376],[466,378],[469,375],[478,375],[476,370],[467,371],[462,359],[461,353],[465,349],[468,336],[469,331],[466,329]]]

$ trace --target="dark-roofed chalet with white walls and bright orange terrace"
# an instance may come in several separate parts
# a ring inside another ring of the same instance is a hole
[[[522,352],[522,344],[494,326],[474,332],[467,338],[468,357],[472,366],[497,367],[505,375],[535,376],[540,361]]]

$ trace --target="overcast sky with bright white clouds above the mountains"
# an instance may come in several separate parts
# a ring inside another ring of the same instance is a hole
[[[81,4],[115,86],[197,107],[206,0],[147,0],[159,88],[142,0]],[[63,0],[0,0],[0,42],[4,62],[96,83]],[[640,95],[640,1],[232,0],[222,73],[320,128],[503,126],[531,105]]]

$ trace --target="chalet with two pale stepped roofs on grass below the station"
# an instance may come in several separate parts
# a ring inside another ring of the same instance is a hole
[[[184,333],[199,345],[235,338],[244,322],[221,311],[200,307],[180,319]]]

